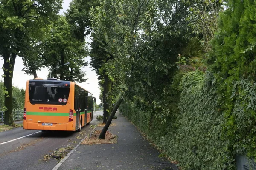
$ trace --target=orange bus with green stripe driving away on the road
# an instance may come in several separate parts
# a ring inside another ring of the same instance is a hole
[[[55,78],[26,82],[23,129],[81,131],[93,120],[93,94]]]

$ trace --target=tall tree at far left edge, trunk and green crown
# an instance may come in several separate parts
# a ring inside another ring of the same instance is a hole
[[[29,56],[32,37],[40,37],[61,9],[62,0],[2,0],[0,2],[0,56],[4,59],[5,120],[12,121],[12,77],[17,56]]]

